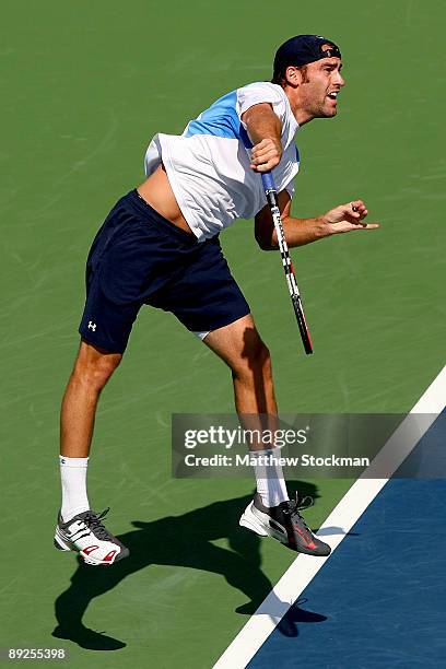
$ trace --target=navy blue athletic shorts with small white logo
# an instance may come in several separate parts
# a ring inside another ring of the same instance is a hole
[[[136,190],[115,204],[98,231],[85,281],[79,332],[110,352],[124,353],[143,304],[172,312],[192,332],[215,330],[249,314],[219,238],[199,244]]]

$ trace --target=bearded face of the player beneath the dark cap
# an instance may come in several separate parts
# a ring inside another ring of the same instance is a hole
[[[331,118],[338,108],[338,94],[345,84],[339,58],[322,58],[306,66],[306,77],[298,86],[298,108],[312,118]]]

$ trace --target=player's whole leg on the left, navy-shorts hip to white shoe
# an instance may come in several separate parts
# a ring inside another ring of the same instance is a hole
[[[82,343],[61,411],[62,509],[55,541],[60,550],[80,551],[92,564],[109,564],[128,554],[102,525],[103,515],[91,512],[86,495],[97,400],[122,357],[141,306],[172,282],[169,272],[184,262],[185,245],[195,253],[189,234],[177,231],[132,190],[111,209],[89,253]],[[161,267],[171,269],[163,272]],[[70,531],[67,523],[73,525]],[[107,540],[114,542],[108,553],[101,548]]]

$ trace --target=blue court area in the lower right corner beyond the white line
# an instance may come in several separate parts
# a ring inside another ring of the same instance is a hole
[[[445,435],[444,411],[411,458]],[[444,666],[445,496],[445,479],[390,480],[249,669]]]

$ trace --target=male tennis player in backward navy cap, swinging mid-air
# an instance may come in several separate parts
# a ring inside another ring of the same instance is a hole
[[[232,278],[218,235],[255,218],[260,248],[277,237],[260,174],[273,171],[289,246],[371,230],[362,200],[314,219],[291,216],[298,171],[294,136],[314,118],[337,114],[344,85],[341,54],[330,39],[300,35],[274,58],[271,83],[225,95],[181,137],[156,136],[145,155],[146,180],[121,198],[96,235],[86,266],[81,345],[61,409],[62,506],[55,545],[87,564],[113,564],[128,550],[90,508],[86,467],[101,390],[118,366],[143,304],[169,310],[231,368],[238,414],[277,415],[271,363],[249,306]],[[244,139],[254,148],[245,149]],[[240,525],[290,549],[327,555],[290,501],[280,467],[256,466],[257,493]]]

